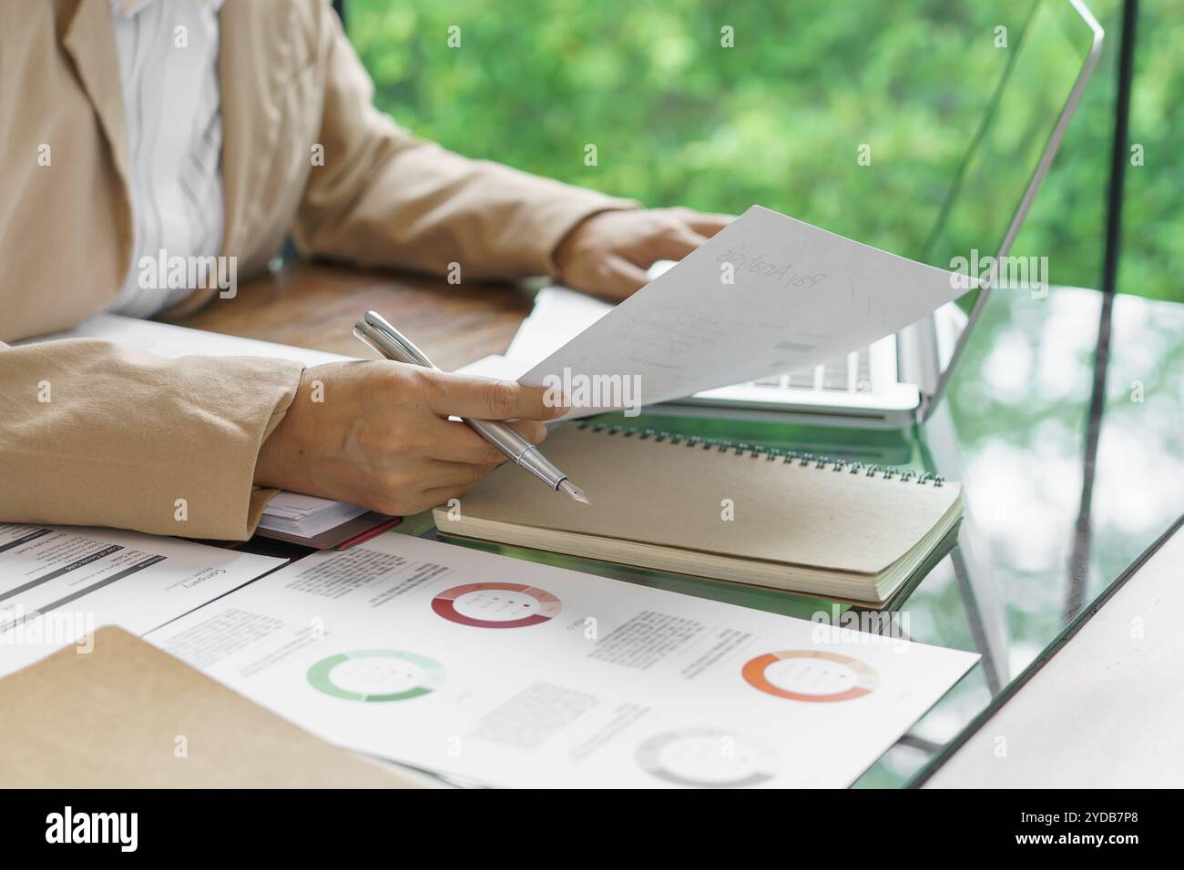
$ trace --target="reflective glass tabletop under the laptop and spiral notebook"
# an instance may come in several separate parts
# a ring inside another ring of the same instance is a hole
[[[907,785],[1184,511],[1184,305],[1119,296],[1092,508],[1082,520],[1101,304],[1098,291],[1075,288],[1044,298],[993,294],[941,404],[910,430],[658,414],[624,421],[963,482],[957,541],[922,568],[894,611],[913,640],[976,651],[982,659],[856,786]],[[436,534],[430,514],[408,517],[400,530]],[[539,550],[449,542],[805,619],[845,608]]]

